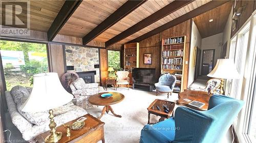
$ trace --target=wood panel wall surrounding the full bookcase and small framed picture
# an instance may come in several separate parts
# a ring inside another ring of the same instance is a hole
[[[167,30],[156,34],[152,37],[140,41],[140,68],[156,68],[156,76],[160,76],[161,72],[161,40],[162,38],[186,36],[185,44],[185,58],[187,64],[184,65],[184,78],[183,78],[183,89],[187,88],[188,81],[188,65],[189,65],[189,47],[190,47],[190,33],[191,33],[191,22],[189,19],[178,25],[168,28]],[[152,53],[152,65],[144,64],[144,53]]]

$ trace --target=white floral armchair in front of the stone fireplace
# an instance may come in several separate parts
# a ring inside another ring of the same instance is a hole
[[[88,98],[99,93],[98,83],[86,83],[82,78],[77,78],[70,84],[70,89],[74,95],[75,104],[81,108],[92,108],[94,105],[88,102]]]

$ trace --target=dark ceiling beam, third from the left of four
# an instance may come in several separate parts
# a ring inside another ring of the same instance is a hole
[[[173,13],[174,11],[182,8],[183,6],[193,2],[194,0],[189,1],[174,1],[167,6],[163,7],[162,9],[158,10],[157,12],[153,13],[152,15],[146,17],[145,19],[141,20],[140,22],[136,23],[135,25],[131,26],[127,30],[123,31],[122,33],[118,34],[117,36],[113,37],[112,39],[106,41],[106,47],[115,44],[116,42],[142,30],[144,27],[160,20],[161,18]]]

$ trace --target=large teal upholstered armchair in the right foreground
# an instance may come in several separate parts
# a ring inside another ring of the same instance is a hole
[[[175,117],[153,126],[145,125],[140,143],[217,143],[220,142],[242,109],[243,101],[227,96],[210,97],[207,111],[180,106]]]

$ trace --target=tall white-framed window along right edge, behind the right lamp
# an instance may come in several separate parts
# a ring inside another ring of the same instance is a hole
[[[227,82],[229,96],[245,101],[234,129],[239,142],[256,142],[256,15],[231,39],[229,58],[241,77]]]

